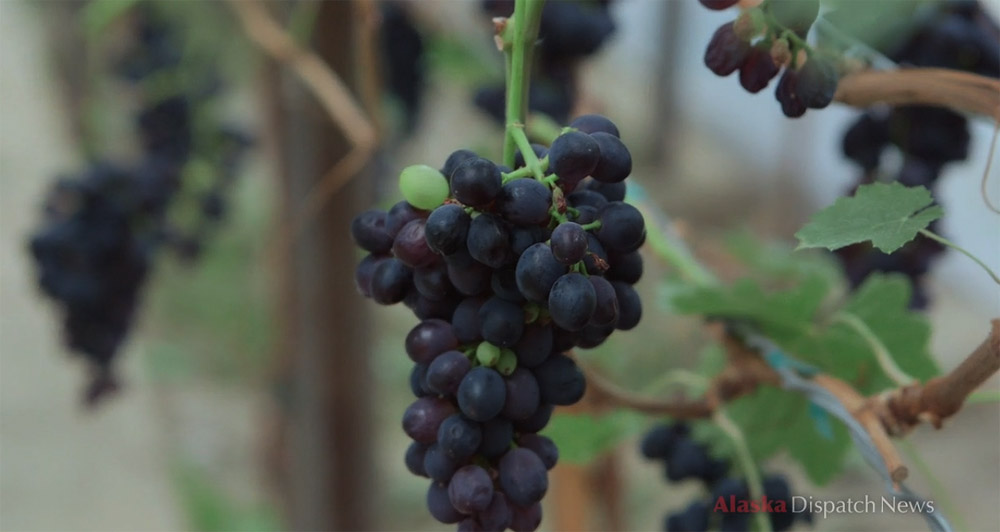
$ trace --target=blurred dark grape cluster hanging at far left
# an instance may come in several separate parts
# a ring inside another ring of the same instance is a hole
[[[138,9],[133,47],[116,71],[140,97],[145,79],[178,68],[175,37],[150,5]],[[193,88],[194,95],[150,100],[136,113],[139,162],[98,160],[58,178],[30,237],[39,286],[61,306],[66,345],[91,363],[88,404],[117,387],[112,360],[131,327],[155,252],[166,245],[182,258],[197,256],[201,240],[224,214],[224,194],[249,139],[234,128],[206,128],[196,146],[193,122],[209,94],[205,86]],[[168,211],[186,192],[184,172],[195,155],[212,182],[193,198],[197,221],[182,232]]]

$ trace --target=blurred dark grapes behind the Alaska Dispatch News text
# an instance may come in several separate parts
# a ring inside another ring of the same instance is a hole
[[[746,482],[728,476],[729,462],[712,458],[707,448],[690,436],[690,427],[684,423],[658,425],[646,433],[640,446],[642,455],[647,459],[664,462],[667,480],[697,480],[705,485],[708,493],[706,499],[695,500],[683,510],[667,515],[663,523],[664,530],[750,530],[752,514],[738,511],[738,504],[750,499]],[[791,512],[791,489],[783,476],[765,476],[763,488],[764,496],[772,503],[771,509],[774,511],[770,512],[771,528],[776,532],[791,528],[796,518],[811,519],[809,513]]]

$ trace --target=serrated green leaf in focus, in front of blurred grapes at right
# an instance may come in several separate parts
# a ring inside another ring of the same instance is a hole
[[[814,214],[795,236],[799,248],[838,249],[870,240],[885,253],[892,253],[944,214],[933,203],[924,187],[904,187],[896,182],[864,185],[854,196],[840,198]]]

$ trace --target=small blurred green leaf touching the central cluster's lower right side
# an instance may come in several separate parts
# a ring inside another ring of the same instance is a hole
[[[559,447],[559,461],[585,464],[643,429],[642,417],[629,411],[556,414],[543,431]]]

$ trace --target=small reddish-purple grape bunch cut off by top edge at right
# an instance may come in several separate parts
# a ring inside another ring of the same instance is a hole
[[[700,1],[715,10],[737,3]],[[818,14],[819,0],[767,0],[715,30],[705,65],[719,76],[739,71],[740,85],[751,93],[764,90],[784,68],[774,94],[785,116],[822,109],[833,101],[840,72],[833,56],[803,41]]]

